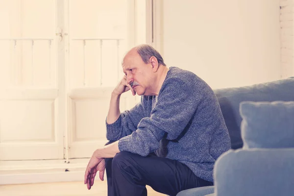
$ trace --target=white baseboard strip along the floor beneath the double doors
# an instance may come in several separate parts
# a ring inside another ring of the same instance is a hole
[[[88,160],[0,161],[0,185],[84,181]]]

